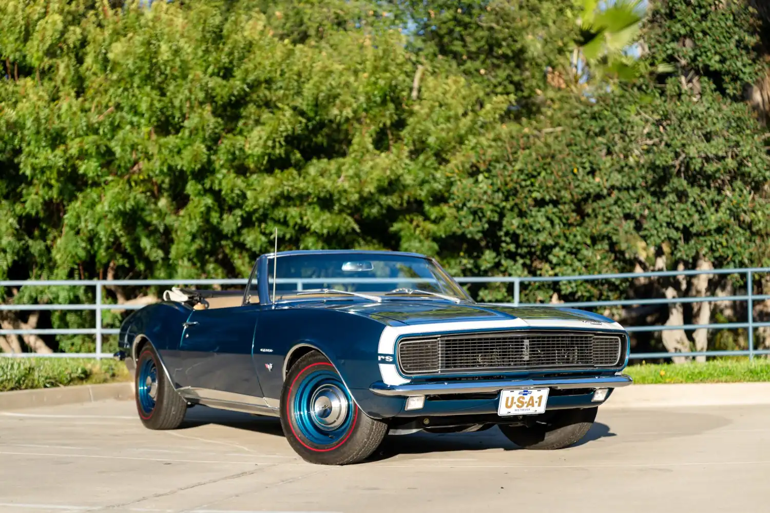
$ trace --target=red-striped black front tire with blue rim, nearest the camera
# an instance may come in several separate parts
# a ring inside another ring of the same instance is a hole
[[[314,385],[317,383],[320,385]],[[387,424],[367,417],[344,386],[330,361],[316,351],[297,360],[286,375],[281,391],[281,427],[289,445],[305,461],[318,465],[358,463],[371,455],[385,438]],[[336,394],[333,397],[340,401],[323,406],[327,409],[310,412],[310,402],[303,398],[316,397],[324,387],[332,389]],[[327,417],[323,417],[324,414]],[[333,418],[332,425],[339,423],[339,426],[333,431],[323,431],[318,427],[319,422],[313,420],[322,417],[323,420]],[[330,442],[322,443],[326,432],[330,433],[326,435]]]

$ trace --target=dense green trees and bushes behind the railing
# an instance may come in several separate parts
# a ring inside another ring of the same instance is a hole
[[[752,12],[653,3],[644,73],[618,82],[638,2],[617,22],[562,0],[2,2],[0,278],[244,276],[274,228],[457,275],[767,265],[770,162],[738,98],[763,66]],[[554,292],[638,293],[524,298]]]

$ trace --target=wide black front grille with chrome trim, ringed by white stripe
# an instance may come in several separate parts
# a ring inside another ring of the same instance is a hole
[[[596,368],[618,365],[621,336],[584,331],[497,331],[402,338],[404,375]]]

